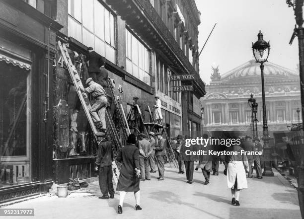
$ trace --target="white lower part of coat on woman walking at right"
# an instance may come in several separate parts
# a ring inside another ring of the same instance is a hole
[[[243,161],[230,161],[227,167],[227,185],[228,188],[234,188],[235,179],[237,179],[236,189],[246,189],[247,179]]]

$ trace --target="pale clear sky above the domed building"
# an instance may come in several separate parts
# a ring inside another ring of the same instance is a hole
[[[199,51],[200,76],[210,82],[211,67],[221,75],[253,59],[252,43],[259,30],[270,41],[269,62],[296,70],[299,64],[298,38],[289,45],[296,21],[286,0],[195,0],[201,11]],[[257,64],[258,65],[258,64]]]

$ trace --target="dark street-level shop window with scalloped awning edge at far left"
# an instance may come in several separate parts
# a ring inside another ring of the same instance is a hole
[[[0,62],[0,186],[30,182],[30,69]],[[14,65],[17,64],[17,65]]]

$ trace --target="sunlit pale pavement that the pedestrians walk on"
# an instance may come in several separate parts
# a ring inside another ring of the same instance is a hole
[[[101,200],[95,193],[72,193],[68,198],[40,197],[6,208],[34,208],[39,219],[300,219],[297,191],[284,177],[275,172],[275,177],[262,180],[248,179],[248,189],[240,194],[240,206],[230,205],[231,195],[227,188],[224,166],[220,175],[211,175],[209,185],[204,185],[201,171],[195,171],[193,184],[187,184],[185,174],[166,168],[165,180],[140,184],[142,211],[135,211],[133,193],[128,193],[123,215],[117,215],[119,195],[114,199]],[[99,191],[92,183],[90,190]],[[20,219],[20,217],[9,217]]]

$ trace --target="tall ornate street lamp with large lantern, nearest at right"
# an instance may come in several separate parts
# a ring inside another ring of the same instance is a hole
[[[270,52],[270,45],[263,40],[263,34],[261,30],[259,32],[258,40],[253,44],[252,43],[252,53],[255,58],[256,63],[260,63],[261,69],[261,77],[262,77],[262,109],[263,109],[263,137],[262,140],[264,142],[264,156],[266,156],[267,160],[265,161],[265,168],[263,172],[263,176],[274,176],[274,173],[271,169],[270,157],[271,157],[271,147],[269,147],[269,134],[268,134],[268,126],[267,126],[267,115],[266,115],[266,102],[265,102],[265,86],[264,86],[264,65],[263,63],[267,62],[269,52]],[[265,58],[265,54],[267,56]]]

